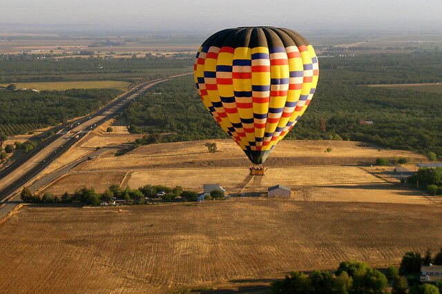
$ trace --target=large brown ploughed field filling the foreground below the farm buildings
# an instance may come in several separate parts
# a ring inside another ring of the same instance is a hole
[[[398,264],[405,251],[439,250],[441,227],[442,210],[419,204],[243,198],[121,209],[23,206],[0,224],[0,288],[158,293],[265,284],[345,259]]]

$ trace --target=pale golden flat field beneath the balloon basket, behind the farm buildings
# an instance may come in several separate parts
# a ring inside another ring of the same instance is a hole
[[[183,186],[185,189],[202,189],[202,184],[220,183],[229,193],[239,193],[247,185],[250,191],[267,191],[277,184],[285,186],[317,186],[330,184],[371,184],[383,182],[354,166],[296,166],[287,168],[269,168],[264,177],[249,175],[247,168],[180,168],[135,170],[131,187],[145,184],[161,184],[166,186]]]

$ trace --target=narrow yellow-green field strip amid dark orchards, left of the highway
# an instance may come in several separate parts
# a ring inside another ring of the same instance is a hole
[[[115,88],[126,91],[130,83],[126,81],[40,81],[30,83],[15,83],[17,88],[36,90],[68,90],[68,89],[103,89]],[[6,87],[8,84],[0,86]]]

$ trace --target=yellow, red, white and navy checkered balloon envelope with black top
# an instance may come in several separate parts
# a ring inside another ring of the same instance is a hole
[[[287,28],[228,28],[198,50],[195,84],[204,106],[253,164],[262,164],[314,95],[318,59]]]

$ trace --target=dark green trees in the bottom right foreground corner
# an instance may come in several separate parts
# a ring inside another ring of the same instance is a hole
[[[396,294],[439,294],[442,293],[442,281],[432,284],[421,284],[419,275],[421,265],[442,264],[442,248],[434,259],[430,251],[422,258],[420,253],[407,252],[403,256],[399,268],[390,266],[381,272],[370,268],[364,262],[341,262],[333,273],[329,271],[313,271],[309,275],[291,272],[284,279],[271,284],[273,293],[336,293],[364,294],[385,293],[388,281],[392,281],[392,293]]]

